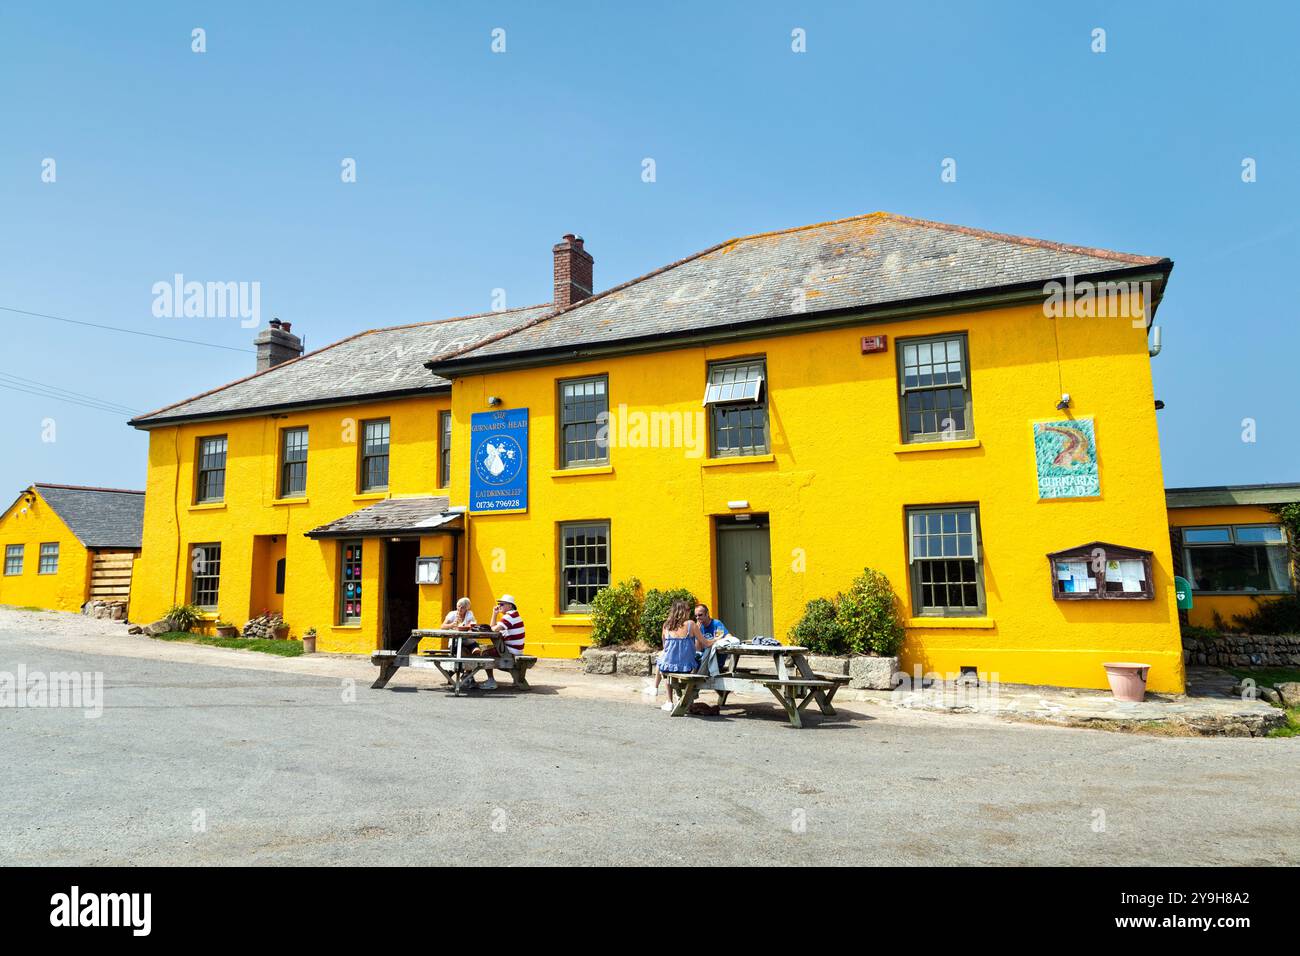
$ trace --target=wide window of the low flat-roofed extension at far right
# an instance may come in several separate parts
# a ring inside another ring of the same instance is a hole
[[[1287,536],[1279,524],[1183,528],[1183,567],[1193,591],[1291,591]]]

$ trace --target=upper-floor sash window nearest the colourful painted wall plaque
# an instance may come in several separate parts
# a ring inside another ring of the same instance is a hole
[[[898,339],[898,407],[904,442],[975,434],[966,333]]]

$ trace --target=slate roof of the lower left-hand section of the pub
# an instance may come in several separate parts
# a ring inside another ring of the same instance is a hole
[[[447,388],[429,375],[429,355],[514,328],[550,311],[550,304],[372,329],[290,359],[183,402],[131,419],[150,428],[196,418],[229,418],[272,408],[328,405],[359,398],[420,394]]]

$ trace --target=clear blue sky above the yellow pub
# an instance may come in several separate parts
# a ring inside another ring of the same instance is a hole
[[[1170,256],[1166,483],[1300,480],[1294,5],[285,8],[0,8],[0,306],[250,347],[234,319],[153,317],[151,287],[257,281],[263,317],[315,347],[486,311],[497,287],[549,300],[566,232],[607,287],[732,235],[888,209]],[[0,384],[140,411],[254,363],[12,312],[0,328]],[[143,486],[125,416],[0,399],[10,492]]]

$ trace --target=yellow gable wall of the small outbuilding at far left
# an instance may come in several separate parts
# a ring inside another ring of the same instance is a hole
[[[58,571],[43,575],[40,545],[52,541],[58,542]],[[5,545],[16,544],[23,545],[22,574],[0,574],[0,604],[79,611],[90,593],[94,559],[39,492],[29,489],[0,516],[0,559]]]

